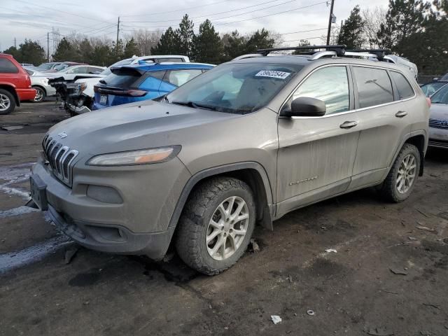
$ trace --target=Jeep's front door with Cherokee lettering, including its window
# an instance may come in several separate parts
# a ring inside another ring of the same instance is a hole
[[[321,117],[279,117],[280,216],[349,187],[360,134],[348,66],[315,69],[286,104],[298,97],[321,99],[326,113]]]

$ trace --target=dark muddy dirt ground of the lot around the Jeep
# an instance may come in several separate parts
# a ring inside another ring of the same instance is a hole
[[[0,130],[0,335],[448,335],[448,153],[428,153],[407,202],[369,189],[295,211],[207,277],[176,256],[80,248],[22,207],[43,133],[64,118],[54,102],[0,116],[27,124]]]

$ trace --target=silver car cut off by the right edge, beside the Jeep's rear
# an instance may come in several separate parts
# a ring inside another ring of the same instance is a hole
[[[448,85],[431,96],[429,146],[448,149]]]

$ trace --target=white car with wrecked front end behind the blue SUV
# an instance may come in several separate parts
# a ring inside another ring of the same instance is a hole
[[[75,80],[74,83],[67,83],[66,90],[71,90],[71,92],[74,91],[75,94],[71,96],[71,99],[66,99],[66,107],[71,113],[75,114],[90,112],[90,105],[94,101],[93,87],[94,85],[97,85],[99,80],[111,74],[110,68],[138,64],[141,62],[190,62],[190,59],[187,56],[181,55],[151,55],[122,59],[109,66],[109,68],[102,71],[102,73],[99,73],[95,78],[80,78]],[[76,94],[78,94],[78,99],[76,99]]]

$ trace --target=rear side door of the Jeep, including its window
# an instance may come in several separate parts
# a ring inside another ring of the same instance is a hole
[[[411,124],[407,116],[410,97],[400,98],[390,71],[373,66],[351,66],[351,70],[362,125],[350,185],[354,189],[384,178]]]

